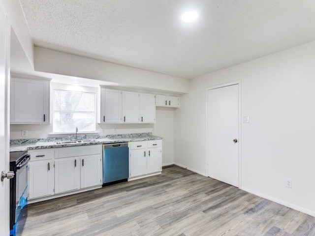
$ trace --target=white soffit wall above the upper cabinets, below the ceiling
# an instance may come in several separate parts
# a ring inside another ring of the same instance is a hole
[[[55,50],[34,47],[36,71],[95,79],[171,93],[185,93],[188,79],[141,70],[101,60],[90,59]]]

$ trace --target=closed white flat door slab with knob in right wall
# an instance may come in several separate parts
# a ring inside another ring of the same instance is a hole
[[[208,176],[238,187],[238,85],[208,90]]]

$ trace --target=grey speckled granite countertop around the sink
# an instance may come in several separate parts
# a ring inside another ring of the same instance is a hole
[[[115,144],[136,141],[160,140],[161,137],[154,136],[152,133],[137,133],[137,134],[119,134],[119,135],[105,135],[105,136],[88,136],[84,139],[82,137],[78,140],[83,140],[82,143],[59,144],[62,141],[69,141],[73,137],[65,138],[47,138],[47,139],[16,139],[10,140],[11,151],[26,151],[40,148],[61,148],[72,146],[96,145],[96,144]]]

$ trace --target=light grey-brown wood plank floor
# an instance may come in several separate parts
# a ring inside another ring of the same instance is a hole
[[[28,212],[23,236],[315,236],[315,217],[177,166]]]

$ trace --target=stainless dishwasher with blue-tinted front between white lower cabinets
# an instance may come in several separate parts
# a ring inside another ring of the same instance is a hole
[[[103,186],[127,181],[129,176],[128,143],[103,145]]]

